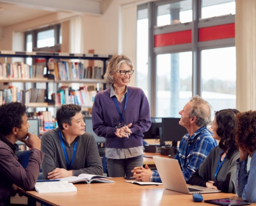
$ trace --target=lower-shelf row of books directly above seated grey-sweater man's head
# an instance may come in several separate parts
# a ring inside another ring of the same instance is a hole
[[[72,90],[68,87],[59,88],[55,104],[60,106],[63,104],[76,104],[80,106],[93,106],[97,91],[88,92],[86,87],[80,87],[79,90]]]

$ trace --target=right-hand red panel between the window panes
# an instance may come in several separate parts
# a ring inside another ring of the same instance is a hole
[[[199,41],[211,41],[235,37],[235,23],[219,26],[200,28],[198,31]]]

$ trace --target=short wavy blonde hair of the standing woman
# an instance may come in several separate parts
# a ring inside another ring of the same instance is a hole
[[[112,84],[114,82],[113,73],[117,72],[121,66],[122,63],[126,63],[131,67],[131,70],[133,68],[133,64],[131,63],[131,60],[126,57],[125,55],[115,55],[111,58],[110,62],[107,66],[107,71],[104,74],[104,79],[107,83]]]

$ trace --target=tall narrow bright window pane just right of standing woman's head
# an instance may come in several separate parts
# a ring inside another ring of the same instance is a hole
[[[148,96],[148,19],[147,9],[138,10],[137,20],[137,87]]]

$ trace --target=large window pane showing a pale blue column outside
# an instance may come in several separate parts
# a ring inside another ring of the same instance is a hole
[[[180,117],[192,97],[192,52],[157,55],[157,116]]]

